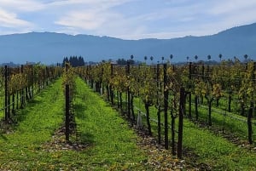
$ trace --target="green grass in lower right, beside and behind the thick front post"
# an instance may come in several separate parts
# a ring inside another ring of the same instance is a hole
[[[135,105],[145,112],[142,100],[136,99]],[[163,113],[161,113],[161,116],[161,122],[163,123]],[[154,106],[150,107],[150,117],[157,118]],[[146,118],[143,117],[144,125],[146,125],[145,120]],[[171,122],[170,115],[168,122]],[[177,123],[178,119],[176,119],[176,130]],[[212,121],[212,124],[214,124],[214,121]],[[156,136],[157,123],[151,122],[151,126],[153,134]],[[169,138],[171,139],[171,135],[169,135]],[[191,123],[189,119],[184,119],[183,123],[183,148],[194,153],[191,157],[185,157],[185,160],[195,162],[195,164],[206,163],[213,170],[256,170],[255,151],[249,151],[234,145],[229,140],[213,134],[207,128],[200,128],[195,123]]]

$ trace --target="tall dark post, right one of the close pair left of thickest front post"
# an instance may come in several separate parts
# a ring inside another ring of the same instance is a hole
[[[165,111],[165,148],[168,149],[168,89],[167,87],[167,76],[166,76],[167,65],[164,64],[164,111]]]

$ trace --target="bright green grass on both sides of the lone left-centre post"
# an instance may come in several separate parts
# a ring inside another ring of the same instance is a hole
[[[77,83],[73,108],[79,136],[73,134],[71,141],[85,148],[55,148],[53,136],[63,124],[65,104],[60,79],[17,113],[12,131],[0,133],[0,170],[150,169],[137,134],[82,80]],[[63,142],[64,135],[59,139]]]

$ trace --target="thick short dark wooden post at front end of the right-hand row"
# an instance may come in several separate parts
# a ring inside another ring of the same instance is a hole
[[[183,152],[183,111],[185,101],[185,90],[180,88],[180,99],[179,99],[179,110],[178,110],[178,137],[177,137],[177,157],[182,158]]]

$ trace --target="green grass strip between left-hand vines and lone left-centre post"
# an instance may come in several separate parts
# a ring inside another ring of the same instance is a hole
[[[41,145],[51,140],[63,122],[64,97],[60,90],[61,79],[16,113],[18,123],[11,132],[0,133],[1,170],[50,169],[55,158]]]

